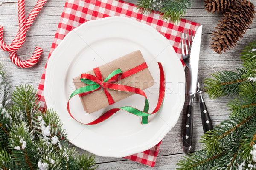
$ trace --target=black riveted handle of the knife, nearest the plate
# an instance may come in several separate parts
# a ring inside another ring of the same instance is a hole
[[[194,109],[193,106],[188,105],[186,108],[185,124],[183,130],[183,146],[190,147],[192,146],[193,138],[193,116]]]

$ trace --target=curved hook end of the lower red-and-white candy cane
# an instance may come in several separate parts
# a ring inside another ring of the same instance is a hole
[[[10,52],[10,59],[18,67],[29,68],[38,62],[38,59],[40,58],[42,52],[43,52],[42,48],[36,47],[32,57],[29,60],[25,61],[25,60],[20,60],[19,57],[17,56],[17,52],[13,51],[13,52]]]

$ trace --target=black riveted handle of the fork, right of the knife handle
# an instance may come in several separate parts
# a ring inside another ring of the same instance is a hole
[[[207,111],[205,102],[200,103],[200,110],[201,110],[201,118],[202,118],[202,125],[204,129],[204,133],[209,130],[213,129],[212,120],[210,118],[209,112]]]

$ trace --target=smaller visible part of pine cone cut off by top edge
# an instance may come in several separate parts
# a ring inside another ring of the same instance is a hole
[[[204,7],[209,13],[224,12],[227,8],[232,6],[236,0],[204,0]]]

